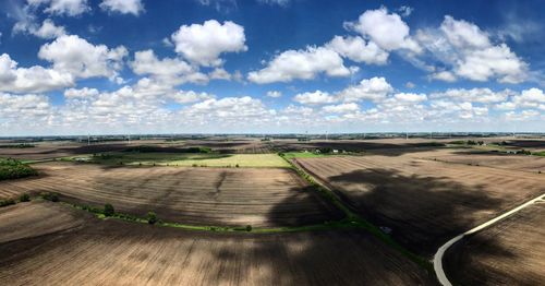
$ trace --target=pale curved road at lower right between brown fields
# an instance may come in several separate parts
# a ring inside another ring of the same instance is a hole
[[[453,243],[458,242],[460,239],[462,239],[463,237],[465,237],[468,235],[474,234],[476,231],[482,230],[483,228],[486,228],[491,225],[494,225],[495,223],[519,212],[520,210],[522,210],[522,208],[524,208],[533,203],[542,201],[542,200],[545,200],[545,193],[512,208],[511,211],[509,211],[507,213],[504,213],[502,215],[500,215],[496,218],[493,218],[493,219],[491,219],[491,221],[488,221],[480,226],[476,226],[476,227],[450,239],[449,241],[447,241],[447,243],[443,245],[434,255],[434,270],[435,270],[435,273],[437,275],[437,278],[439,279],[439,283],[444,286],[452,286],[452,284],[450,284],[450,282],[448,281],[447,275],[445,274],[445,271],[443,270],[443,255],[445,254],[447,249],[449,249]]]

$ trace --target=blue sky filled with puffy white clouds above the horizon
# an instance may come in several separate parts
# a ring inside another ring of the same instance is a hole
[[[0,136],[545,132],[543,1],[4,0]]]

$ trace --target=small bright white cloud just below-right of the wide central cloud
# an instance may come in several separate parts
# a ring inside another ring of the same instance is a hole
[[[344,102],[373,100],[378,102],[385,99],[388,93],[391,93],[393,87],[386,81],[385,78],[372,78],[362,80],[358,85],[351,85],[337,94]]]

